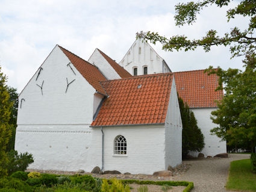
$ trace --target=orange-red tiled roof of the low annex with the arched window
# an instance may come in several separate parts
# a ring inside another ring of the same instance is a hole
[[[172,79],[171,73],[163,73],[102,82],[109,97],[92,126],[163,124]]]

